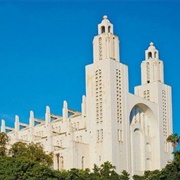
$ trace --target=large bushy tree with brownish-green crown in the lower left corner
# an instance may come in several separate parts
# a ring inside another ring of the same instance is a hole
[[[7,134],[0,133],[0,179],[65,180],[64,174],[51,169],[52,154],[40,144],[16,142],[7,153],[8,141]]]

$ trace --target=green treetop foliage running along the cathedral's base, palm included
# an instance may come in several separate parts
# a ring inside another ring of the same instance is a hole
[[[175,140],[173,139],[175,138]],[[169,142],[177,142],[177,135]],[[179,136],[178,136],[179,138]],[[9,150],[9,138],[0,133],[0,180],[129,180],[130,174],[119,175],[115,166],[105,162],[100,167],[56,171],[52,167],[52,154],[46,154],[40,144],[16,142]],[[162,170],[145,171],[143,176],[134,175],[134,180],[178,180],[180,179],[180,151],[174,151],[174,160]]]

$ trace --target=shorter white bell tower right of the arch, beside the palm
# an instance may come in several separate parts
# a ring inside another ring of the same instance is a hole
[[[145,60],[141,63],[141,85],[135,87],[135,95],[144,99],[144,104],[154,103],[157,105],[157,115],[154,118],[154,123],[149,124],[150,139],[148,142],[154,149],[154,154],[151,157],[158,156],[153,160],[146,154],[146,168],[151,159],[152,169],[162,168],[167,163],[168,159],[172,158],[172,148],[167,143],[166,139],[169,134],[172,134],[172,95],[171,87],[164,83],[164,66],[163,61],[159,59],[159,52],[151,42],[148,49],[145,51]],[[152,111],[155,114],[155,110]],[[146,114],[146,113],[145,113]],[[146,116],[146,115],[145,115]],[[148,116],[149,118],[150,116]],[[147,124],[147,118],[144,123]],[[153,121],[149,121],[152,123]],[[153,127],[154,126],[154,127]],[[154,131],[156,128],[156,131]],[[147,128],[148,129],[148,128]],[[154,132],[153,132],[154,131]],[[144,131],[145,132],[145,131]],[[147,136],[147,133],[144,134]],[[156,145],[153,143],[156,141]],[[153,150],[151,151],[153,153]],[[158,159],[159,158],[159,159]],[[149,159],[149,160],[148,160]],[[157,160],[158,159],[158,160]],[[147,169],[146,169],[147,170]]]

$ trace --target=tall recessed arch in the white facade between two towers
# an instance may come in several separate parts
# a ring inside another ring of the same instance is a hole
[[[156,131],[157,121],[152,110],[145,104],[136,104],[130,112],[132,174],[142,175],[145,170],[151,170]]]

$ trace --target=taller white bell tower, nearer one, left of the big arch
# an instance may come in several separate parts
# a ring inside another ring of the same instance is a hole
[[[119,62],[119,38],[107,16],[98,24],[93,51],[93,64],[86,66],[90,167],[109,161],[119,173],[129,171],[128,68]]]

